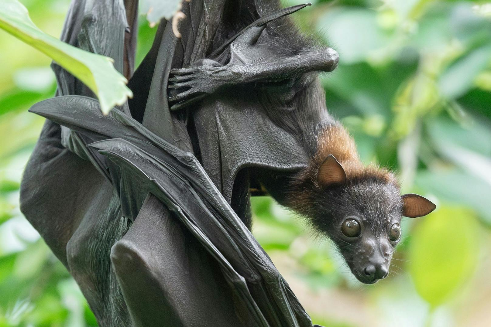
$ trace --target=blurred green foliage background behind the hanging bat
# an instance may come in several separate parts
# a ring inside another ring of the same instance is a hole
[[[374,286],[360,285],[327,240],[270,198],[253,198],[254,235],[314,323],[490,326],[491,2],[312,2],[295,19],[340,54],[322,77],[329,111],[365,162],[394,169],[403,191],[438,209],[403,220],[390,278]],[[37,26],[59,35],[68,0],[23,3]],[[142,18],[138,63],[154,33]],[[27,109],[55,89],[49,59],[6,33],[0,46],[0,327],[96,326],[18,208],[43,122]]]

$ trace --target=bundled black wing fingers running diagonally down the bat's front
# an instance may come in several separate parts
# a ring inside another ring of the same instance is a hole
[[[169,144],[123,112],[114,110],[104,116],[91,98],[57,97],[30,111],[94,140],[91,148],[131,172],[128,175],[142,181],[146,190],[175,213],[218,262],[229,292],[244,310],[241,315],[253,322],[246,326],[311,326],[271,259],[191,153]],[[104,169],[107,167],[101,167]],[[122,202],[134,196],[129,191],[120,193]]]

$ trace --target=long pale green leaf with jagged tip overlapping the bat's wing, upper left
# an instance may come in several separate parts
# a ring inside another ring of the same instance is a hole
[[[83,51],[44,33],[17,0],[0,0],[0,7],[0,28],[50,56],[81,80],[97,95],[105,114],[133,96],[126,86],[128,81],[114,69],[111,58]]]

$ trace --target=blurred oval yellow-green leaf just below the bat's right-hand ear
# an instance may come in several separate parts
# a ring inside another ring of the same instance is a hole
[[[419,295],[436,307],[469,279],[477,263],[479,228],[462,207],[441,207],[413,232],[409,273]]]

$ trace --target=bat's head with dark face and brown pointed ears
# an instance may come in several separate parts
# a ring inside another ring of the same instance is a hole
[[[387,276],[401,219],[421,217],[436,206],[417,194],[400,195],[396,183],[376,175],[348,178],[332,156],[317,172],[311,218],[314,227],[338,246],[355,277],[373,284]]]

